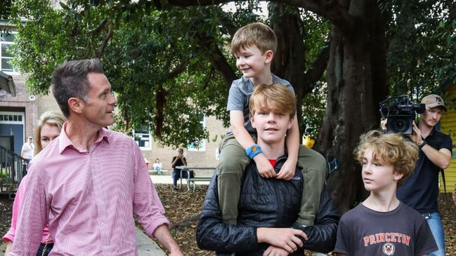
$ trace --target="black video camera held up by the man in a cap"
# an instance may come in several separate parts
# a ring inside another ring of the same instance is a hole
[[[411,102],[408,95],[388,96],[380,102],[380,113],[387,118],[387,133],[412,134],[417,113],[423,114],[425,110],[426,105]]]

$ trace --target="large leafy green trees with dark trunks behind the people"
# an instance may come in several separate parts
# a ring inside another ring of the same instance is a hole
[[[233,2],[234,11],[224,4]],[[117,128],[150,128],[162,144],[211,135],[202,115],[228,125],[230,83],[240,76],[228,50],[236,29],[270,25],[279,39],[273,72],[297,93],[301,133],[337,170],[328,182],[339,210],[363,197],[353,161],[359,135],[379,127],[379,102],[413,100],[455,81],[454,1],[16,0],[14,54],[27,87],[48,93],[65,60],[100,58],[119,98]],[[23,22],[27,20],[27,22]],[[306,129],[311,127],[312,129]],[[190,140],[190,141],[189,141]],[[350,187],[350,189],[347,189]]]

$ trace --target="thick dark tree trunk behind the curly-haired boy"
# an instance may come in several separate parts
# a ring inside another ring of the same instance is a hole
[[[356,20],[351,34],[332,26],[327,67],[329,91],[320,151],[333,163],[332,167],[337,163],[328,185],[341,213],[366,196],[353,149],[361,133],[379,128],[377,106],[387,94],[384,22],[375,3],[350,1],[348,11]]]

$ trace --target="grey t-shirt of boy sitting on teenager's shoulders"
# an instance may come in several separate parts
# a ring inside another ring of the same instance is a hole
[[[294,94],[293,86],[289,81],[280,79],[278,76],[273,75],[273,83],[280,83],[287,86],[289,90]],[[250,79],[242,76],[240,79],[236,79],[231,83],[230,93],[228,94],[228,104],[226,110],[240,110],[244,113],[244,127],[249,133],[256,133],[256,130],[252,127],[249,119],[249,99],[250,95],[254,92],[254,84]],[[231,127],[226,132],[226,135],[233,135]]]

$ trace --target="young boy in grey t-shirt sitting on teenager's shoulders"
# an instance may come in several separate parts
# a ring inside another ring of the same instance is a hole
[[[263,178],[290,180],[296,166],[303,169],[304,189],[301,210],[297,222],[313,225],[325,183],[326,161],[316,151],[299,144],[299,128],[294,116],[292,127],[287,131],[286,146],[288,159],[275,173],[273,166],[256,144],[256,130],[249,121],[249,97],[255,86],[280,83],[294,94],[288,81],[271,73],[271,62],[277,48],[273,30],[256,22],[237,30],[231,42],[236,57],[236,67],[242,77],[233,81],[228,95],[227,110],[230,112],[230,130],[221,144],[219,162],[219,204],[223,221],[236,224],[237,203],[240,196],[242,172],[251,159]],[[310,187],[311,186],[311,187]]]

